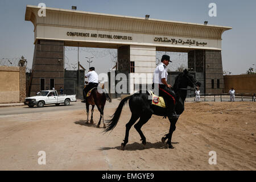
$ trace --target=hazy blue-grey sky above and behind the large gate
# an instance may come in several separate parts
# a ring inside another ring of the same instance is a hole
[[[34,26],[31,22],[25,21],[24,16],[26,5],[37,6],[42,2],[47,7],[61,9],[71,9],[72,6],[77,6],[77,10],[94,13],[143,18],[149,14],[150,18],[154,19],[191,23],[204,23],[207,20],[208,24],[229,26],[233,29],[222,34],[223,70],[231,72],[232,75],[240,75],[246,73],[250,67],[256,69],[255,0],[1,0],[0,60],[16,61],[23,55],[28,61],[28,67],[31,68],[34,54]],[[208,5],[212,2],[217,5],[216,17],[208,15]],[[66,48],[65,55],[69,65],[77,63],[77,48]],[[96,67],[98,73],[106,73],[114,65],[113,56],[109,55],[107,49],[82,48],[79,55],[81,64],[86,68],[89,67],[89,63],[85,56],[94,56],[91,66]],[[181,56],[184,57],[184,55]],[[72,68],[69,67],[69,69]]]

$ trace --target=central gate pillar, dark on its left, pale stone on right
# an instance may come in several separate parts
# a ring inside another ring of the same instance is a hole
[[[147,89],[147,85],[151,86],[156,67],[155,61],[156,47],[154,46],[131,45],[118,48],[117,73],[126,75],[127,93],[133,94],[134,90]]]

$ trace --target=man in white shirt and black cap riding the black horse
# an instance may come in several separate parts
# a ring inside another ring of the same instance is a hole
[[[178,116],[175,113],[176,94],[171,90],[172,86],[167,84],[168,73],[166,67],[169,62],[172,62],[170,56],[163,55],[161,63],[155,69],[152,88],[154,89],[156,86],[155,84],[158,84],[159,96],[163,97],[164,102],[167,105],[166,116],[177,118]]]

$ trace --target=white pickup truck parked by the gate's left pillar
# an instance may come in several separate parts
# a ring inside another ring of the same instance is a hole
[[[58,95],[56,90],[43,90],[36,93],[34,97],[25,98],[24,105],[28,107],[43,107],[46,104],[60,105],[64,104],[68,106],[70,102],[76,102],[76,95]]]

